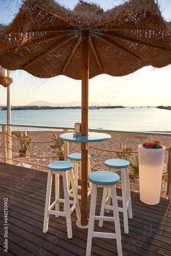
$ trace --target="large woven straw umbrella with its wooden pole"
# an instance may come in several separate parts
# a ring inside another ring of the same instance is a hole
[[[40,78],[82,80],[82,135],[87,136],[89,79],[169,65],[170,28],[154,0],[131,0],[105,12],[83,1],[70,10],[53,0],[27,0],[11,24],[0,26],[0,65]],[[88,150],[83,143],[81,153],[81,196],[87,201]],[[81,208],[81,224],[87,224],[87,206]]]

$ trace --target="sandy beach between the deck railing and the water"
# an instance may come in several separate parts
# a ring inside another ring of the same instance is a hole
[[[47,167],[38,166],[37,164],[48,165],[50,162],[57,161],[58,157],[53,150],[50,148],[50,145],[53,145],[52,141],[53,132],[59,136],[63,132],[58,131],[30,131],[28,132],[28,138],[31,138],[31,142],[39,142],[39,143],[31,143],[31,147],[29,147],[29,151],[26,157],[19,157],[18,150],[20,149],[19,141],[14,139],[16,136],[12,138],[12,150],[16,152],[12,152],[12,158],[18,160],[18,162],[12,161],[13,164],[17,164],[20,162],[29,161],[32,162],[32,168],[46,171]],[[71,132],[71,131],[69,131]],[[24,134],[24,132],[21,132]],[[106,133],[106,132],[105,132]],[[144,134],[132,134],[132,133],[118,133],[118,132],[110,132],[111,139],[103,142],[96,142],[89,144],[89,154],[90,154],[90,164],[92,171],[95,170],[105,170],[104,161],[117,158],[114,152],[109,151],[121,151],[120,144],[126,145],[127,148],[132,148],[135,152],[138,150],[138,145],[144,143],[146,140],[159,140],[161,145],[165,147],[170,146],[171,137],[170,136],[155,136],[155,135],[144,135]],[[49,142],[49,143],[40,143],[40,142]],[[0,147],[3,146],[2,134],[0,134]],[[93,147],[93,148],[92,148]],[[100,150],[98,150],[100,149]],[[103,151],[106,150],[106,151]],[[81,152],[80,144],[70,142],[69,143],[69,154]],[[165,153],[165,163],[167,160],[167,152]],[[127,160],[134,162],[136,154],[132,154],[131,156],[127,156]],[[0,148],[0,156],[3,157],[3,148]],[[1,159],[0,159],[1,160]],[[35,164],[33,164],[35,163]],[[131,179],[132,182],[138,182],[137,178]]]

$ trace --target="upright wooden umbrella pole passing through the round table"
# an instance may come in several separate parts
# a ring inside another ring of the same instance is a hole
[[[81,132],[89,133],[89,31],[82,31]],[[88,148],[81,143],[81,225],[88,224]]]

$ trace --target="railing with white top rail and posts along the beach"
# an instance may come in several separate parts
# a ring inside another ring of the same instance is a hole
[[[10,145],[11,145],[11,134],[9,134],[9,131],[11,133],[12,128],[16,131],[19,129],[24,131],[26,130],[26,128],[30,129],[30,131],[34,131],[34,129],[39,129],[39,131],[58,131],[58,132],[62,132],[62,133],[67,133],[68,131],[73,131],[74,128],[73,127],[53,127],[53,126],[34,126],[34,125],[14,125],[14,124],[0,124],[0,126],[2,127],[2,137],[3,137],[3,146],[0,145],[0,150],[1,148],[3,148],[3,157],[0,155],[0,159],[3,159],[3,161],[5,163],[9,163],[9,164],[13,164],[13,162],[22,162],[22,160],[16,159],[12,157],[12,151],[14,151]],[[11,127],[11,129],[8,129],[8,127]],[[20,127],[20,128],[19,128]],[[101,130],[101,129],[89,129],[90,131],[95,131],[95,132],[110,132],[110,133],[133,133],[133,134],[146,134],[146,135],[158,135],[158,136],[171,136],[171,134],[169,133],[153,133],[153,132],[127,132],[127,131],[112,131],[112,130]],[[170,137],[171,139],[171,137]],[[33,142],[35,143],[35,142]],[[41,142],[42,143],[42,142]],[[64,158],[65,160],[68,159],[68,154],[69,154],[69,143],[68,142],[64,142],[63,144],[64,147]],[[108,150],[105,150],[108,151]],[[110,151],[109,151],[110,152]],[[138,153],[138,152],[137,152]],[[33,156],[32,156],[33,157]],[[46,158],[46,157],[44,157]],[[49,157],[49,158],[53,158],[53,157]],[[56,159],[57,160],[57,159]],[[169,155],[168,155],[168,161],[171,165],[171,150],[169,151]],[[32,162],[32,161],[27,161],[26,159],[23,160],[24,163],[26,164],[30,164],[30,165],[36,165],[36,166],[40,166],[40,167],[47,167],[46,164],[40,164],[37,162]],[[169,167],[171,168],[171,167]],[[168,197],[171,198],[171,171],[168,173],[169,177],[168,177],[168,181],[170,184],[169,187],[169,191],[168,191]],[[130,183],[133,186],[139,186],[139,184],[136,183]],[[161,189],[161,191],[166,192],[166,189]]]

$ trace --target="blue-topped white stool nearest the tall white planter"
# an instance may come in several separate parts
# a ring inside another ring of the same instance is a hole
[[[118,207],[120,212],[123,212],[123,223],[124,223],[124,232],[127,234],[129,233],[129,226],[128,226],[128,218],[127,218],[127,210],[129,214],[129,218],[133,218],[132,214],[132,205],[131,205],[131,194],[130,194],[130,182],[129,182],[129,172],[128,167],[130,166],[130,162],[123,160],[123,159],[109,159],[104,162],[106,166],[106,171],[112,170],[120,170],[121,172],[121,184],[122,184],[122,197],[117,197],[117,200],[122,201],[122,208]],[[108,196],[105,197],[104,204],[101,204],[101,212],[103,212],[103,208],[106,209],[106,212],[109,213],[112,206],[110,205],[111,201],[111,191],[108,189]],[[101,215],[100,212],[100,215]],[[99,221],[99,226],[102,227],[103,222]]]

